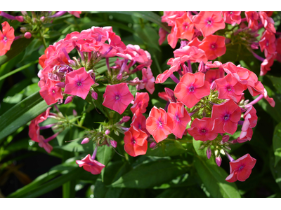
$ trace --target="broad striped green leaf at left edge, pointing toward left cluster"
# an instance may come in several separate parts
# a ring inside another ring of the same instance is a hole
[[[23,99],[0,116],[0,139],[4,139],[22,125],[27,124],[46,111],[47,108],[48,105],[39,92]]]

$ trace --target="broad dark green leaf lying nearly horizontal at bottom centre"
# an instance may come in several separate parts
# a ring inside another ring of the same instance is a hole
[[[169,160],[148,162],[124,174],[110,186],[113,188],[152,188],[171,181],[186,172],[187,167],[182,162]]]

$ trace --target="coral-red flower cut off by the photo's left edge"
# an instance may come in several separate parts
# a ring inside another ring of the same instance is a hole
[[[5,55],[10,50],[13,40],[15,39],[15,30],[10,27],[8,22],[3,22],[2,31],[0,31],[0,56]]]

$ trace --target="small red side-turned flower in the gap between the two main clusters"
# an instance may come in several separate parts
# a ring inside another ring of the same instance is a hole
[[[136,92],[136,98],[131,106],[132,113],[145,113],[148,107],[149,96],[147,92]]]

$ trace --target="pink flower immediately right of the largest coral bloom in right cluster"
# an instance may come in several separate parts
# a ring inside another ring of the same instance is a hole
[[[224,78],[215,80],[218,88],[218,99],[233,99],[238,103],[242,97],[244,86],[238,83],[238,80],[229,73]]]

